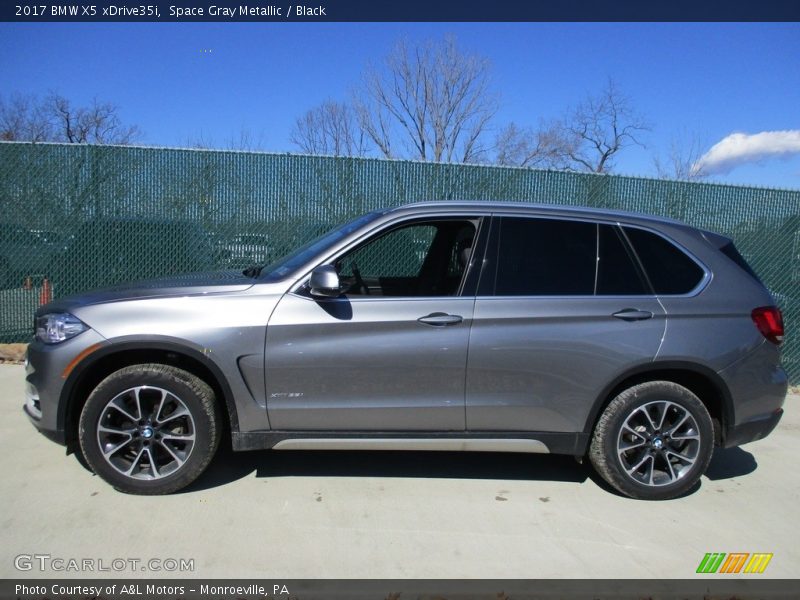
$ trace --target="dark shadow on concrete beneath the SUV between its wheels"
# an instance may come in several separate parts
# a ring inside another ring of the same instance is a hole
[[[256,477],[408,477],[582,483],[589,467],[571,456],[496,452],[261,450],[221,446],[203,475],[183,490],[197,492]]]

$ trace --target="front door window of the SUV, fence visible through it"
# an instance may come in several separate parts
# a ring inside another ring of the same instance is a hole
[[[345,254],[336,269],[348,296],[453,296],[475,238],[476,221],[422,221],[392,229]]]

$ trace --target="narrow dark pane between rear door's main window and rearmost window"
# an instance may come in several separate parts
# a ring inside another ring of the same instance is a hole
[[[642,280],[628,245],[618,227],[598,226],[597,286],[598,296],[642,296],[650,292]]]

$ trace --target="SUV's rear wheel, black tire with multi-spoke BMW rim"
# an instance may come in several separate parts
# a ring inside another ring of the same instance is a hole
[[[592,435],[589,459],[622,494],[668,500],[697,484],[713,451],[714,425],[700,399],[676,383],[650,381],[609,403]]]

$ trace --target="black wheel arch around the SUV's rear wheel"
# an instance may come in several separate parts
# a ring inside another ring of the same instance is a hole
[[[711,415],[714,443],[724,442],[728,428],[734,422],[733,399],[728,386],[712,369],[683,361],[647,363],[620,374],[598,394],[583,432],[591,436],[606,406],[620,392],[647,381],[671,381],[690,390]]]

